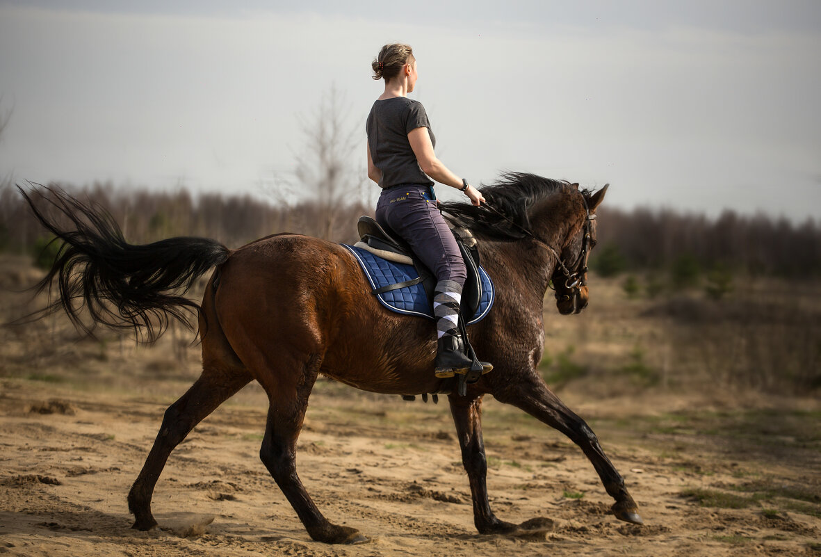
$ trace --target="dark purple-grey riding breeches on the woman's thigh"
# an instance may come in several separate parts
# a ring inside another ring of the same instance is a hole
[[[382,191],[376,222],[396,232],[438,281],[465,284],[467,272],[453,232],[447,228],[430,186],[404,184]]]

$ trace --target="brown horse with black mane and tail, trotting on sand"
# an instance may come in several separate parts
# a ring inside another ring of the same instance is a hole
[[[595,211],[607,186],[589,191],[570,182],[506,173],[480,191],[487,200],[482,206],[442,204],[452,223],[474,232],[482,265],[497,288],[492,311],[468,329],[477,356],[494,369],[467,385],[464,396],[455,391],[447,395],[470,482],[475,527],[481,534],[506,534],[538,522],[505,522],[490,507],[481,422],[485,394],[571,439],[615,500],[615,517],[641,524],[635,501],[593,430],[537,371],[548,288],[555,288],[563,315],[578,313],[588,303],[587,256],[595,244]],[[170,319],[183,319],[186,308],[198,314],[202,374],[165,411],[131,486],[133,527],[157,526],[151,499],[172,450],[255,380],[269,400],[259,458],[310,537],[329,544],[367,541],[354,527],[325,518],[297,475],[296,441],[308,398],[320,374],[374,393],[447,390],[450,384],[433,374],[436,336],[431,322],[381,306],[354,257],[333,242],[279,233],[236,250],[195,237],[131,245],[99,207],[62,192],[48,196],[52,209],[73,224],[67,230],[21,193],[40,223],[63,242],[39,284],[50,292],[57,278],[57,297],[43,311],[65,310],[82,328],[89,325],[81,313],[89,311],[92,325],[133,327],[148,334],[149,341],[163,333]],[[200,304],[180,292],[213,268]]]

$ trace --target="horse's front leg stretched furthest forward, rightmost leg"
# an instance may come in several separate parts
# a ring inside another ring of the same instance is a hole
[[[541,377],[533,372],[529,380],[500,389],[499,392],[493,393],[493,397],[502,403],[521,408],[539,421],[561,431],[579,445],[599,473],[604,489],[616,499],[611,508],[616,518],[634,524],[644,524],[638,506],[627,492],[624,479],[604,454],[593,430],[548,389]]]

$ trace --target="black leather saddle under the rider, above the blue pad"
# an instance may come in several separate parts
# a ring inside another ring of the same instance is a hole
[[[421,283],[424,292],[428,296],[428,300],[433,300],[433,288],[436,287],[436,277],[416,257],[407,242],[402,240],[401,237],[398,237],[395,232],[388,232],[379,226],[374,219],[368,216],[360,217],[356,223],[356,229],[359,232],[360,241],[355,243],[355,247],[369,251],[378,257],[393,261],[394,263],[413,265],[419,274],[419,277],[416,279],[409,279],[399,283],[388,284],[381,288],[374,288],[374,294],[390,292]],[[480,270],[479,268],[479,249],[476,246],[476,238],[473,236],[473,232],[470,232],[467,228],[455,228],[452,229],[452,232],[453,236],[456,237],[456,245],[459,246],[459,251],[461,251],[462,260],[465,261],[465,268],[467,270],[467,279],[465,286],[462,288],[459,313],[461,320],[464,320],[466,323],[471,323],[477,320],[475,319],[475,315],[479,309],[479,305],[483,301],[483,294],[485,299],[488,297],[488,292],[484,292],[483,283],[487,284],[489,280],[483,280],[484,270]],[[481,316],[484,317],[484,313]]]

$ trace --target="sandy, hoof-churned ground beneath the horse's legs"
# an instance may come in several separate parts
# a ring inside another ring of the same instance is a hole
[[[550,518],[553,527],[483,536],[473,527],[447,401],[406,403],[322,381],[300,437],[300,476],[328,518],[370,538],[331,546],[310,540],[259,461],[266,407],[257,387],[172,453],[154,494],[160,526],[137,532],[126,493],[185,384],[0,384],[2,554],[821,555],[812,401],[791,403],[787,413],[772,403],[750,412],[714,401],[696,411],[672,396],[641,407],[571,401],[626,476],[646,521],[640,527],[608,513],[612,501],[575,445],[488,399],[494,510],[511,522]]]

